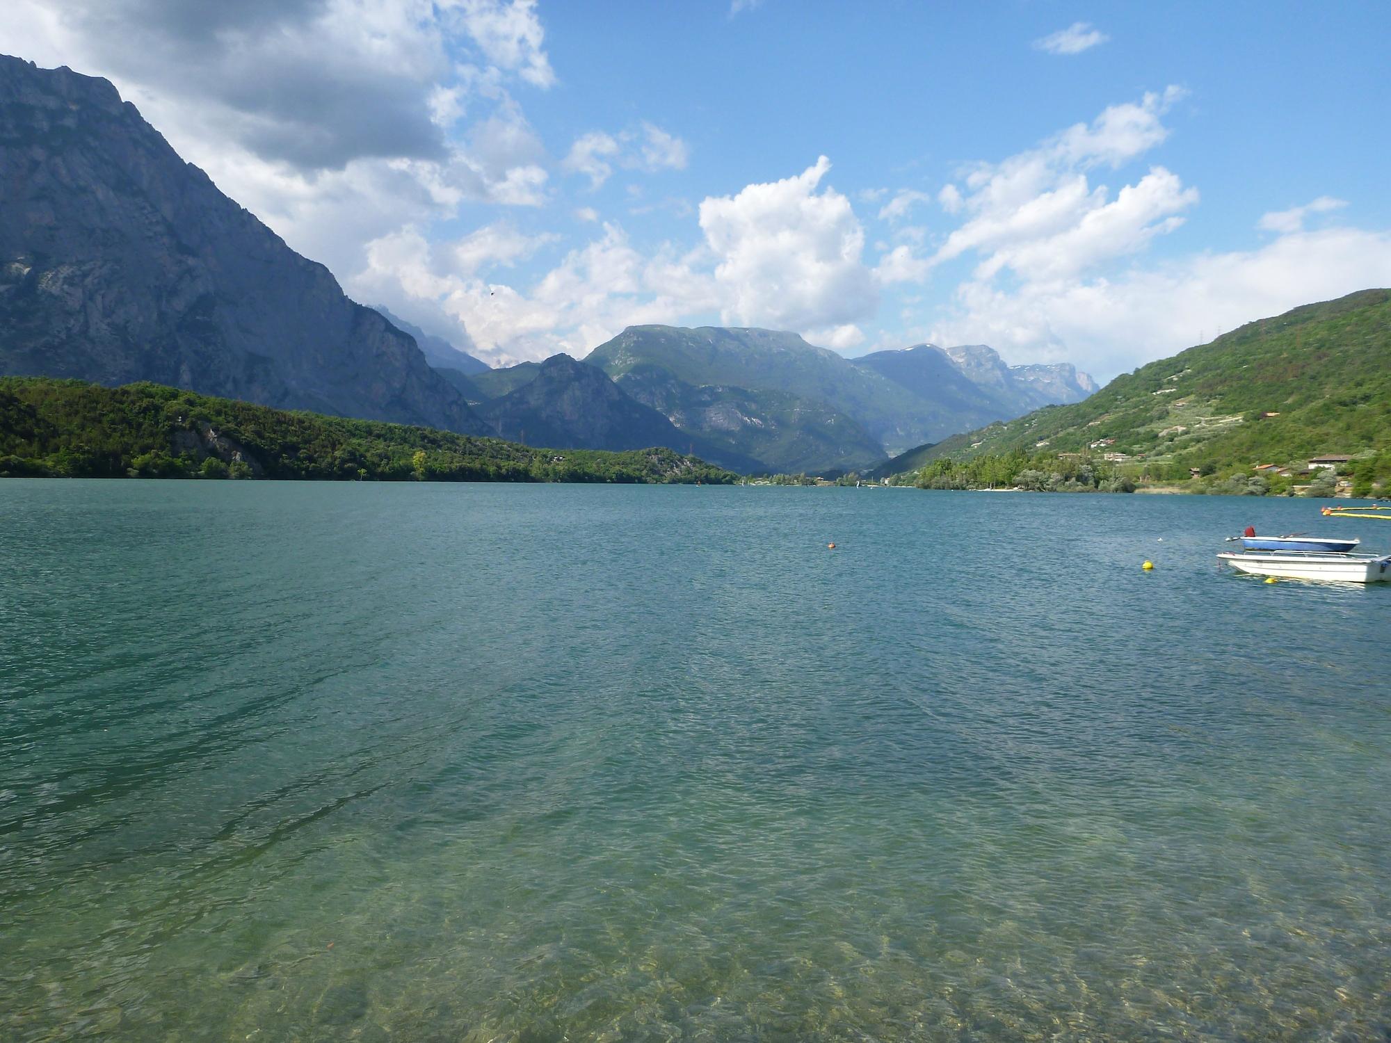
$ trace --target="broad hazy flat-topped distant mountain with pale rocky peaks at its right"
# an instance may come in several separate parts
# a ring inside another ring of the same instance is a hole
[[[985,346],[844,359],[796,334],[719,327],[630,327],[586,362],[683,431],[722,438],[771,470],[822,473],[874,467],[1040,401],[1077,401],[1091,385],[1071,367],[1011,369]]]

